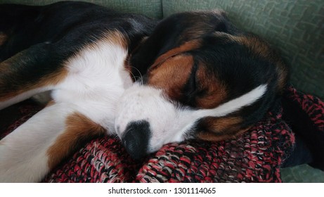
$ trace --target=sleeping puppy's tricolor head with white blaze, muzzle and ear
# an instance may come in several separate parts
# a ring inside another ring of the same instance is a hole
[[[162,20],[129,63],[139,78],[119,101],[115,127],[133,158],[169,142],[237,136],[266,113],[287,75],[268,44],[221,11]]]

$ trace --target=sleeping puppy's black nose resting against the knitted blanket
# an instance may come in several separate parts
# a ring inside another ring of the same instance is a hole
[[[148,154],[150,139],[150,124],[145,120],[129,122],[122,136],[122,143],[134,160],[139,160]]]

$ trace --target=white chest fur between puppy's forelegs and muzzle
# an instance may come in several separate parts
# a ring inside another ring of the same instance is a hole
[[[124,68],[127,49],[110,41],[82,49],[66,62],[68,75],[53,91],[56,103],[70,103],[79,113],[113,131],[115,106],[131,85]]]

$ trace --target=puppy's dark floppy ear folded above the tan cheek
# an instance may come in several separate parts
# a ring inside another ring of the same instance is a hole
[[[134,77],[145,75],[155,60],[171,49],[211,32],[226,32],[226,21],[222,11],[176,13],[165,18],[132,53],[129,63]]]

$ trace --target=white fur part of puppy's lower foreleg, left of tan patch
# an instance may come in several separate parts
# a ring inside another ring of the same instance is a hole
[[[60,132],[70,105],[49,106],[0,141],[0,182],[39,182],[49,172],[46,151]]]

